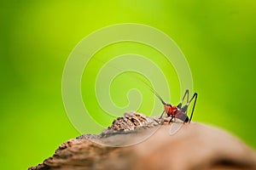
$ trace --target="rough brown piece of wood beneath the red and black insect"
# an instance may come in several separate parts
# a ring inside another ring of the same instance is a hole
[[[103,133],[70,139],[54,156],[29,169],[256,169],[255,151],[224,130],[190,122],[170,135],[167,122],[126,113]],[[148,139],[126,147],[97,144],[136,143],[148,133]]]

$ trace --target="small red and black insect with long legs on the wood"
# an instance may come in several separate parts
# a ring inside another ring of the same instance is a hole
[[[149,88],[149,87],[148,87]],[[181,102],[175,106],[175,105],[171,105],[166,103],[159,94],[157,94],[154,89],[150,88],[150,90],[155,94],[155,96],[160,99],[161,103],[164,105],[165,110],[162,112],[160,119],[162,118],[162,116],[164,115],[164,113],[167,114],[167,117],[171,116],[171,119],[169,121],[172,122],[173,118],[177,118],[179,120],[182,120],[183,122],[190,122],[193,116],[193,112],[195,110],[195,103],[196,103],[196,99],[197,99],[197,94],[193,94],[192,98],[189,99],[189,89],[187,89],[185,91],[185,94],[183,95],[183,98],[181,99]],[[186,98],[186,104],[183,105],[183,101]],[[193,101],[194,99],[194,104],[193,104],[193,108],[190,114],[190,118],[189,116],[187,116],[187,112],[188,112],[188,108],[190,103]]]

